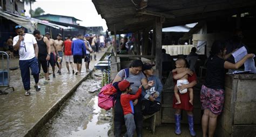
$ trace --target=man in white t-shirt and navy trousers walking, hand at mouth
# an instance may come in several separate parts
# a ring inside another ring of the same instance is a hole
[[[15,31],[18,34],[14,37],[14,50],[19,50],[19,68],[21,69],[22,82],[25,89],[25,96],[30,95],[30,70],[35,79],[36,91],[41,88],[38,84],[39,81],[39,68],[38,68],[38,46],[35,37],[32,34],[25,33],[21,25],[15,26]]]

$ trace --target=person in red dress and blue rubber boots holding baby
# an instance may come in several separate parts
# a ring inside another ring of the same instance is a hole
[[[178,59],[179,60],[179,59]],[[182,80],[183,77],[187,76],[187,84],[177,84],[177,88],[180,91],[183,91],[184,89],[193,88],[197,84],[197,76],[193,71],[191,71],[188,68],[185,68],[183,71],[177,73],[177,71],[174,71],[173,73],[173,83],[176,84],[177,80]],[[174,88],[175,90],[175,88]],[[175,95],[174,95],[175,96]],[[173,109],[175,109],[174,119],[175,119],[175,134],[180,135],[181,129],[180,129],[180,120],[181,120],[181,110],[187,111],[187,120],[188,125],[190,129],[190,135],[196,136],[196,132],[194,132],[194,117],[193,117],[193,105],[189,102],[191,100],[190,93],[180,93],[178,92],[178,97],[180,98],[180,104],[177,104],[178,100],[176,97],[173,97]]]

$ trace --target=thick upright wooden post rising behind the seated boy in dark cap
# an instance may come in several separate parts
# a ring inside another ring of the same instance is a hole
[[[162,60],[161,60],[161,48],[162,48],[162,23],[163,18],[156,17],[156,68],[159,70],[159,78],[162,77]]]

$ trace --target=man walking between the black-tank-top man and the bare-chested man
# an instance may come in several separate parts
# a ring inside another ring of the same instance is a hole
[[[48,38],[49,43],[50,43],[50,47],[51,47],[50,60],[47,63],[48,73],[49,73],[49,67],[50,67],[50,64],[51,64],[52,77],[55,78],[56,55],[58,55],[58,53],[56,52],[55,41],[53,39],[51,39],[51,36],[50,36],[49,32],[45,33],[45,37]],[[48,80],[50,80],[50,77],[48,77]]]

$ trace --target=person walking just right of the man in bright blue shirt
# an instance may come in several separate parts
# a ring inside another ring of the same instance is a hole
[[[90,53],[92,53],[92,48],[91,48],[91,45],[89,43],[90,35],[89,34],[85,34],[84,37],[85,37],[84,44],[85,44],[85,47],[86,47],[86,55],[84,57],[85,68],[86,68],[86,72],[90,72],[91,71],[89,69]]]

